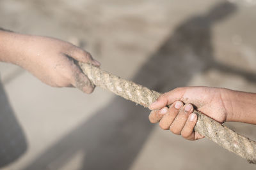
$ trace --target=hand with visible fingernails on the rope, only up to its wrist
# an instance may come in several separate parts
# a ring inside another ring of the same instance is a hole
[[[208,117],[223,123],[227,121],[227,110],[223,95],[225,90],[211,87],[181,87],[162,94],[150,105],[149,115],[152,123],[159,122],[161,129],[170,129],[189,140],[204,138],[193,131],[197,117],[193,105]],[[185,105],[183,103],[186,103]],[[171,104],[171,105],[170,105]],[[193,104],[193,105],[192,105]],[[170,107],[166,107],[170,105]]]

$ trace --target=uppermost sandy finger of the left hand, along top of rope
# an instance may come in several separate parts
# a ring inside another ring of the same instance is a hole
[[[77,61],[90,63],[97,67],[100,66],[100,62],[94,60],[89,52],[86,52],[85,50],[76,46],[72,48],[72,50],[67,52],[67,54],[70,55],[72,58],[76,59]]]

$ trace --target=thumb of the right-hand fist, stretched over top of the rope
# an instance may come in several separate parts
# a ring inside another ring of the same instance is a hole
[[[175,101],[179,101],[184,95],[185,91],[186,91],[185,87],[180,87],[180,88],[171,90],[170,92],[166,92],[161,96],[159,96],[157,101],[150,104],[149,109],[159,110],[160,108],[163,108],[164,106],[168,106]]]

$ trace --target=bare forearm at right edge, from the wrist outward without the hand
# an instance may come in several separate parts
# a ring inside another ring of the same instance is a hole
[[[227,121],[256,124],[256,94],[227,90],[223,99]]]

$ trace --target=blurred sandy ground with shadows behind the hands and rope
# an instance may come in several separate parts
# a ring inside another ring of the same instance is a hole
[[[256,92],[253,0],[1,0],[0,27],[70,41],[159,92]],[[0,73],[0,169],[255,169],[208,139],[162,131],[147,109],[100,88],[49,87],[11,64]],[[226,125],[256,139],[255,125]]]

